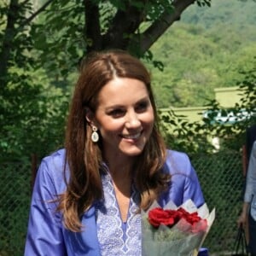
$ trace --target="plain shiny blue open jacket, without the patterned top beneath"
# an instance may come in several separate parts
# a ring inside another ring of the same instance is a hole
[[[65,150],[61,149],[44,158],[38,168],[28,220],[25,256],[101,255],[96,234],[95,207],[84,212],[84,230],[72,232],[63,226],[61,212],[55,211],[56,203],[49,202],[66,189],[64,159]],[[200,183],[187,154],[168,150],[164,172],[172,175],[172,182],[169,189],[160,196],[161,207],[171,200],[177,206],[188,199],[194,201],[197,207],[204,203]]]

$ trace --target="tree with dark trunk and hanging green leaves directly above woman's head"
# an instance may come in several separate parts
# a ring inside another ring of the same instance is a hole
[[[125,49],[147,58],[154,42],[195,2],[210,3],[56,0],[33,26],[35,47],[41,51],[42,64],[47,62],[49,71],[59,70],[62,76],[92,50]]]

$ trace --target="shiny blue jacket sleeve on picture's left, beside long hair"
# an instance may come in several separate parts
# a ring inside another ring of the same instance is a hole
[[[61,229],[61,214],[55,212],[58,191],[54,165],[43,160],[35,180],[28,221],[25,256],[67,255]]]

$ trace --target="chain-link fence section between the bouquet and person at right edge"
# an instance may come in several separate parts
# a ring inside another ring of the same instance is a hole
[[[191,160],[209,209],[216,208],[216,218],[204,247],[210,249],[211,256],[230,255],[234,250],[236,219],[242,204],[241,154],[196,155]]]

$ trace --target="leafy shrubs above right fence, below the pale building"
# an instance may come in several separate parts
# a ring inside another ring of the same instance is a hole
[[[186,117],[169,113],[160,113],[162,130],[166,143],[177,150],[195,153],[211,153],[218,150],[239,152],[246,142],[246,129],[256,124],[256,57],[250,70],[241,71],[242,79],[237,81],[241,91],[241,101],[233,108],[223,108],[216,100],[207,104],[207,118],[198,122],[189,122]],[[232,113],[232,122],[228,113]],[[218,113],[226,115],[225,121],[217,119]],[[201,113],[202,114],[202,113]],[[234,119],[235,117],[235,119]],[[218,138],[220,148],[215,148],[212,138]]]

